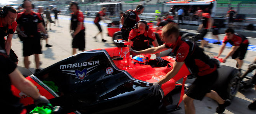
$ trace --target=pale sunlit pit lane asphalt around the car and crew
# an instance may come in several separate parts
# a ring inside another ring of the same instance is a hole
[[[42,62],[41,68],[49,67],[50,65],[59,62],[63,59],[66,59],[67,57],[70,57],[72,54],[72,38],[69,33],[69,26],[70,26],[70,16],[63,16],[59,15],[59,21],[60,26],[54,26],[54,24],[51,24],[51,29],[49,30],[48,27],[48,33],[49,33],[49,44],[53,45],[53,47],[45,47],[46,42],[42,41],[42,51],[43,54],[40,54],[40,61]],[[53,19],[53,18],[52,18]],[[85,18],[85,21],[94,21],[94,19],[91,18]],[[102,21],[101,21],[102,22]],[[107,21],[110,22],[110,21]],[[85,39],[86,39],[86,47],[85,50],[89,49],[96,49],[96,48],[107,48],[107,47],[115,47],[115,45],[112,42],[112,38],[107,36],[107,26],[101,26],[103,30],[103,37],[105,40],[107,40],[106,43],[101,42],[101,36],[98,35],[98,42],[96,42],[93,39],[93,36],[95,36],[98,33],[98,28],[94,24],[90,23],[84,23],[85,25]],[[195,33],[195,31],[192,30],[185,30],[187,32]],[[224,37],[223,34],[219,35],[220,40],[222,40]],[[212,38],[211,33],[208,33],[205,38]],[[251,45],[256,45],[256,38],[249,38],[249,42]],[[217,55],[220,45],[217,44],[210,44],[213,48],[206,51],[207,54],[210,56]],[[17,35],[13,35],[12,40],[12,46],[11,48],[15,51],[16,55],[18,56],[18,65],[21,67],[24,67],[23,64],[23,47],[22,42],[18,38]],[[230,47],[226,47],[223,51],[222,55],[220,57],[225,57],[225,55],[230,51]],[[254,47],[253,47],[254,49]],[[80,51],[77,51],[77,53]],[[247,70],[248,65],[253,61],[254,57],[256,56],[256,48],[255,51],[247,51],[246,57],[244,60],[244,65],[242,67],[244,72]],[[155,57],[154,55],[152,57]],[[30,56],[29,60],[31,62],[30,69],[32,72],[34,72],[35,63],[34,63],[34,56]],[[227,60],[226,63],[221,63],[221,65],[227,65],[231,67],[235,67],[236,61],[231,59],[231,57]],[[253,74],[250,73],[249,76],[252,76]],[[193,79],[188,79],[186,84],[191,84],[193,82]],[[180,93],[177,93],[173,95],[174,104],[176,104],[179,101]],[[236,97],[231,100],[231,105],[228,106],[225,110],[225,114],[256,114],[256,111],[251,111],[247,108],[247,106],[256,100],[256,91],[253,89],[248,89],[245,91],[240,91],[236,94]],[[196,114],[214,114],[215,109],[217,108],[217,103],[213,101],[210,98],[205,97],[202,101],[195,100],[195,110]],[[184,103],[182,102],[180,104],[182,107],[181,110],[170,112],[169,114],[184,114]],[[216,113],[217,114],[217,113]]]

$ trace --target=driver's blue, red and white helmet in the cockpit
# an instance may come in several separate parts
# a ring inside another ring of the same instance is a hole
[[[144,55],[136,55],[131,59],[131,63],[136,66],[142,66],[147,64],[147,57]]]

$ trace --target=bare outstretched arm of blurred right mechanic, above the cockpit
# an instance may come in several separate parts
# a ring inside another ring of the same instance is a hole
[[[162,44],[161,46],[158,46],[158,47],[151,47],[145,50],[138,51],[138,54],[156,54],[156,53],[165,51],[167,49],[169,48],[167,48],[165,44]]]

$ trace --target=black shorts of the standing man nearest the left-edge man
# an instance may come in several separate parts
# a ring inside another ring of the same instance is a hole
[[[23,56],[27,57],[33,54],[42,54],[39,35],[23,38]]]

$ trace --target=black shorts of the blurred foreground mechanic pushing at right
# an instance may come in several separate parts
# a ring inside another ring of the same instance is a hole
[[[190,98],[202,100],[206,93],[210,93],[213,84],[218,79],[218,71],[215,70],[204,76],[197,76],[189,90],[185,93]]]

